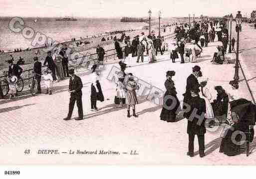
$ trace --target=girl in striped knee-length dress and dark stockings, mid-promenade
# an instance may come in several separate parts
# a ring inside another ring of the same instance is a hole
[[[126,103],[127,103],[127,117],[130,116],[130,106],[132,106],[133,110],[133,116],[138,117],[135,113],[135,105],[138,104],[138,99],[136,95],[136,91],[139,89],[138,84],[134,80],[134,77],[132,73],[129,73],[128,75],[125,76],[125,86],[126,86]]]

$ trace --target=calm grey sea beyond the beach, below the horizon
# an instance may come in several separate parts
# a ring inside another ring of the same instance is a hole
[[[31,39],[25,39],[21,33],[12,32],[9,22],[13,17],[0,17],[0,50],[8,51],[14,48],[31,48]],[[70,41],[92,35],[100,35],[115,30],[141,29],[146,22],[120,22],[120,18],[77,18],[75,21],[56,21],[55,17],[24,17],[24,27],[31,27],[34,32],[41,32],[54,41]],[[36,22],[35,22],[36,21]],[[176,22],[174,18],[161,19],[162,24]],[[153,26],[158,26],[158,19],[152,20]]]

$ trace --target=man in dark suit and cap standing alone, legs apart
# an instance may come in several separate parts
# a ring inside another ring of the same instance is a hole
[[[68,115],[64,118],[65,121],[71,119],[75,101],[78,108],[78,118],[75,120],[83,120],[83,105],[82,105],[82,88],[83,83],[80,77],[75,75],[74,69],[69,70],[69,75],[71,76],[69,79],[69,92],[70,92],[70,99],[69,99],[69,110]]]

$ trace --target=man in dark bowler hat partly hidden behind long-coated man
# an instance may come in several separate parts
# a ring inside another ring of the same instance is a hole
[[[200,86],[200,84],[197,80],[198,77],[202,76],[202,72],[200,70],[201,70],[201,68],[199,66],[197,66],[197,65],[194,66],[192,68],[192,71],[193,71],[192,74],[189,75],[189,77],[187,78],[186,92],[183,94],[183,96],[184,96],[183,109],[187,108],[186,105],[190,105],[190,100],[192,98],[191,89],[195,88],[195,87],[198,88]],[[188,118],[189,116],[187,113],[184,113],[184,117]]]

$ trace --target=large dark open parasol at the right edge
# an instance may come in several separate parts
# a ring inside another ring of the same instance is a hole
[[[256,105],[246,99],[238,99],[230,102],[231,111],[236,112],[241,121],[250,121],[255,125]]]

